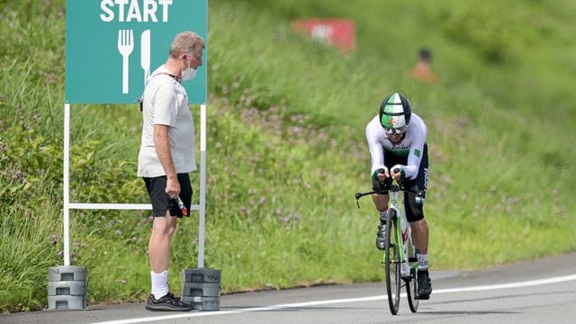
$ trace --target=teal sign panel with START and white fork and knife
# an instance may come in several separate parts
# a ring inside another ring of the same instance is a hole
[[[207,42],[207,18],[207,0],[67,0],[67,103],[135,103],[178,32]],[[190,103],[206,103],[206,49],[202,60],[183,82]]]

